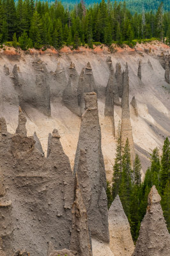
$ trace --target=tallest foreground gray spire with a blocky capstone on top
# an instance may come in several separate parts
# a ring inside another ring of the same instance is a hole
[[[74,174],[77,173],[80,180],[91,236],[109,242],[106,177],[101,149],[97,94],[95,92],[84,93],[84,99],[86,111],[82,115]]]

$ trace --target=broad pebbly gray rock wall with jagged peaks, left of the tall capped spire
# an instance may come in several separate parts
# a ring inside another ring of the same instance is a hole
[[[57,130],[52,133],[49,157],[45,158],[36,150],[33,137],[26,137],[24,124],[25,120],[19,133],[12,136],[0,120],[1,177],[6,191],[0,204],[0,214],[5,216],[0,218],[0,237],[6,255],[26,248],[30,255],[47,256],[51,239],[55,249],[69,248],[72,170]]]

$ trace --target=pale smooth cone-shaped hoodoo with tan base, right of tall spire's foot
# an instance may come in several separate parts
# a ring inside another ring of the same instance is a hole
[[[130,225],[123,211],[120,197],[117,195],[109,208],[110,248],[114,256],[131,256],[134,242],[130,234]]]

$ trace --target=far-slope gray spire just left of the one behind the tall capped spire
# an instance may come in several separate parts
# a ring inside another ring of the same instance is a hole
[[[76,115],[79,114],[78,101],[77,101],[77,85],[78,85],[78,74],[75,69],[74,63],[71,62],[69,68],[68,84],[63,92],[63,102],[66,108],[70,109]]]

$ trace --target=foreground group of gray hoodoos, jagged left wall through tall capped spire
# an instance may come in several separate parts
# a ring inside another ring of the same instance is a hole
[[[84,98],[86,111],[74,175],[58,130],[49,134],[46,158],[36,134],[27,137],[21,108],[15,134],[10,134],[4,118],[0,119],[0,225],[5,227],[0,228],[0,237],[4,255],[92,256],[91,236],[109,243],[97,94],[85,93]]]

